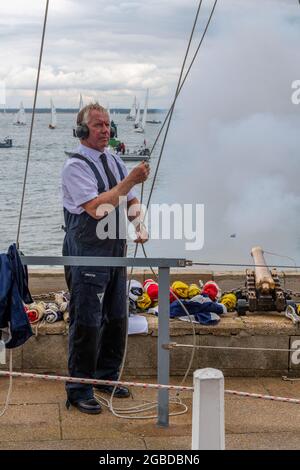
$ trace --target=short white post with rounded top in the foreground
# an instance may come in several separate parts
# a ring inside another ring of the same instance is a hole
[[[217,369],[194,372],[192,450],[224,450],[224,376]]]

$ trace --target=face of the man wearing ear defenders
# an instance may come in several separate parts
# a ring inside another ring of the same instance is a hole
[[[110,122],[108,114],[92,109],[89,114],[89,136],[83,141],[84,145],[103,151],[107,147],[110,138]]]

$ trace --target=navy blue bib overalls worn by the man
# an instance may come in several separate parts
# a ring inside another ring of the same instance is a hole
[[[98,194],[105,191],[96,166],[82,155],[71,158],[85,161],[98,182]],[[122,168],[116,161],[121,179]],[[117,184],[107,175],[109,187]],[[120,209],[115,209],[117,220]],[[72,214],[64,208],[66,235],[63,256],[124,256],[126,240],[100,240],[98,220],[87,212]],[[118,227],[118,223],[117,223]],[[118,378],[126,334],[126,268],[66,266],[70,298],[69,361],[71,377]],[[92,385],[66,384],[70,401],[93,398]]]

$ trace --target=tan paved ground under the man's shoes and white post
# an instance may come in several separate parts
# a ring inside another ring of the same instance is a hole
[[[180,380],[172,377],[171,383]],[[189,379],[187,385],[191,384]],[[225,378],[225,389],[300,398],[300,381],[280,377]],[[7,390],[8,379],[1,377],[1,410]],[[131,390],[132,397],[114,400],[115,407],[156,399],[153,389]],[[170,417],[169,427],[162,428],[155,419],[120,419],[107,409],[97,416],[67,410],[64,384],[17,378],[8,410],[0,418],[0,450],[189,450],[192,392],[180,396],[188,412]],[[299,449],[300,405],[225,395],[225,427],[226,449]]]

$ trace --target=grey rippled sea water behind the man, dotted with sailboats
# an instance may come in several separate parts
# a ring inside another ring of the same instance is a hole
[[[149,119],[163,120],[162,114],[149,115]],[[27,125],[13,125],[11,113],[0,113],[0,139],[10,136],[13,147],[0,148],[0,250],[16,241],[22,188],[26,169],[27,148],[31,114],[26,113]],[[34,120],[31,151],[28,165],[25,199],[20,230],[20,248],[26,255],[60,255],[64,237],[62,230],[63,210],[61,196],[61,170],[66,158],[65,151],[76,149],[79,143],[72,135],[76,115],[58,113],[57,127],[48,128],[50,114],[37,113]],[[113,114],[118,126],[118,139],[130,151],[139,149],[146,140],[151,148],[160,125],[149,124],[146,134],[136,133],[133,122],[126,114]],[[158,147],[153,152],[151,164],[155,164]],[[126,162],[130,171],[137,162]],[[147,182],[144,197],[147,198],[153,173]],[[161,185],[160,185],[161,187]],[[140,185],[136,187],[140,197]],[[146,199],[145,199],[146,201]],[[130,252],[133,251],[130,244]]]

